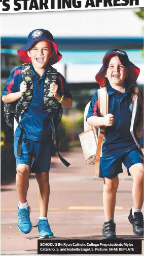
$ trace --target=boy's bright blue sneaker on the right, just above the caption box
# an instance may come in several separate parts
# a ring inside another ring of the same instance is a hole
[[[51,231],[48,220],[41,219],[38,222],[38,231],[40,238],[53,238],[54,234]]]

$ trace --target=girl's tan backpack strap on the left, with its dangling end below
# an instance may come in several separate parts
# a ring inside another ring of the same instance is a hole
[[[104,117],[108,114],[109,108],[109,97],[107,94],[107,88],[103,87],[97,90],[98,95],[98,116]],[[99,176],[99,166],[100,166],[100,152],[101,152],[101,143],[104,137],[105,127],[100,127],[99,129],[99,136],[97,142],[97,149],[96,149],[96,159],[95,159],[95,173],[94,177],[98,178]]]

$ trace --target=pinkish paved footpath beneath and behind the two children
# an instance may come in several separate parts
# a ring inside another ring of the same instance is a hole
[[[50,170],[50,201],[48,218],[56,238],[101,239],[104,222],[102,179],[94,179],[94,166],[87,165],[81,148],[63,153],[71,163],[67,168],[57,157],[52,158]],[[119,175],[115,211],[118,239],[137,239],[128,221],[132,205],[132,178],[126,170]],[[38,184],[29,178],[28,203],[31,221],[37,225],[39,214]],[[37,254],[38,227],[24,235],[17,228],[17,192],[15,182],[1,187],[1,254]],[[139,237],[142,239],[142,237]]]

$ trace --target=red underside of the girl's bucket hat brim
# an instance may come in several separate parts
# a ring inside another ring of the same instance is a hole
[[[119,57],[120,55],[115,54],[115,53],[109,53],[109,54],[104,56],[103,61],[102,61],[103,65],[100,68],[99,72],[95,76],[95,80],[100,86],[104,85],[104,82],[105,82],[105,78],[104,78],[105,61],[110,56],[118,56]],[[132,82],[135,82],[138,78],[139,73],[140,73],[140,69],[138,67],[136,67],[131,61],[128,62],[128,67],[130,69],[130,77],[132,79]]]

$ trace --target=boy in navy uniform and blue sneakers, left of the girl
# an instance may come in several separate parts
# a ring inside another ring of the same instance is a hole
[[[50,107],[46,109],[45,99],[47,98],[44,98],[44,93],[49,79],[45,79],[48,72],[51,72],[51,76],[55,79],[52,73],[53,69],[50,66],[62,58],[58,52],[58,46],[49,31],[38,29],[30,32],[27,43],[18,49],[18,56],[23,62],[30,63],[23,72],[27,75],[26,69],[29,69],[32,72],[33,80],[33,94],[30,96],[30,104],[21,116],[20,125],[16,122],[16,125],[14,124],[14,153],[17,164],[16,186],[19,198],[18,228],[24,234],[29,233],[32,229],[29,218],[30,207],[26,196],[28,191],[28,175],[29,172],[33,172],[39,184],[39,237],[51,238],[53,237],[53,232],[48,223],[47,212],[54,125],[48,114],[60,105],[70,108],[72,106],[72,97],[63,76],[57,72],[57,80],[51,83],[49,88],[48,96],[53,96],[53,100],[51,103],[49,101],[47,105],[50,105]],[[28,79],[30,80],[27,76],[27,81]],[[24,93],[28,94],[29,88],[22,79],[22,67],[18,67],[11,73],[6,83],[2,100],[4,103],[20,102],[19,100],[23,98]],[[27,103],[24,104],[27,105]],[[20,127],[22,127],[23,135],[21,155],[18,156],[17,150],[21,135]]]

